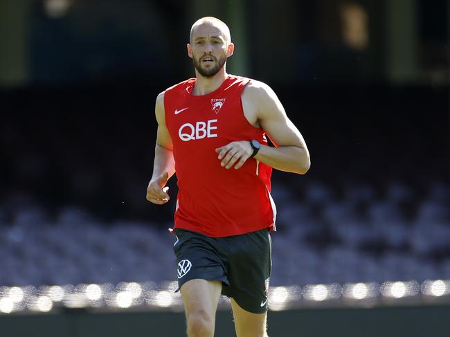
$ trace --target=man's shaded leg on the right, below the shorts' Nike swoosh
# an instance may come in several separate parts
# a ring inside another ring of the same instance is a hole
[[[268,337],[267,312],[251,313],[242,309],[233,298],[230,301],[237,337]]]

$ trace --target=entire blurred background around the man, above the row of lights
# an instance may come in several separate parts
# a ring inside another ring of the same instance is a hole
[[[176,278],[176,178],[170,203],[145,200],[154,101],[195,75],[186,43],[206,15],[231,28],[227,71],[269,84],[311,154],[305,176],[273,172],[271,284],[450,280],[449,10],[1,1],[0,286]]]

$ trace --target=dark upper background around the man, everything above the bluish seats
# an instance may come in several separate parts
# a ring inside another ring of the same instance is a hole
[[[307,175],[273,174],[295,179],[300,201],[310,181],[336,193],[368,183],[380,197],[392,181],[449,183],[448,1],[30,0],[0,10],[6,217],[37,203],[171,221],[173,203],[145,201],[154,99],[194,75],[186,42],[202,15],[231,27],[228,71],[271,85],[305,137]],[[348,42],[346,25],[365,37]]]

